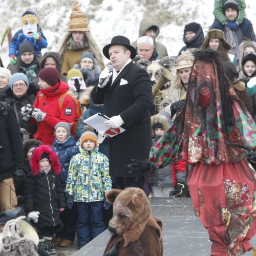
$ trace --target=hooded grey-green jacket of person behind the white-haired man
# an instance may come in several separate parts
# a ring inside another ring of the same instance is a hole
[[[140,28],[139,28],[139,37],[144,36],[145,32],[148,28],[152,27],[152,26],[156,26],[157,27],[157,31],[156,31],[156,37],[159,35],[159,26],[157,24],[157,22],[152,18],[152,17],[145,17],[141,20],[140,22]],[[131,43],[131,45],[136,49],[137,46],[137,40],[133,41]],[[156,47],[156,51],[158,53],[158,59],[161,59],[165,56],[168,56],[168,52],[166,50],[166,47],[161,44],[161,42],[157,42],[156,38],[154,40],[154,45]]]

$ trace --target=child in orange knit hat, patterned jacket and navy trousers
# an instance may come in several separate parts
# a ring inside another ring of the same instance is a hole
[[[77,142],[80,153],[70,161],[66,192],[67,207],[77,209],[77,245],[80,249],[105,230],[103,203],[112,189],[109,159],[98,152],[97,135],[87,126]]]

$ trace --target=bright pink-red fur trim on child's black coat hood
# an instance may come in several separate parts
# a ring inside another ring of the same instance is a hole
[[[59,175],[61,172],[61,163],[59,161],[58,156],[50,146],[40,145],[39,147],[36,147],[34,149],[33,154],[31,156],[30,167],[31,167],[33,176],[36,176],[39,173],[39,169],[40,169],[39,161],[41,160],[42,153],[49,154],[49,161],[51,163],[53,172],[56,175]]]

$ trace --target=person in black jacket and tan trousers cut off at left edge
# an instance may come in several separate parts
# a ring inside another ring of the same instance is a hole
[[[0,101],[0,207],[14,210],[17,205],[14,181],[23,182],[22,137],[12,108]],[[21,179],[20,179],[21,178]]]

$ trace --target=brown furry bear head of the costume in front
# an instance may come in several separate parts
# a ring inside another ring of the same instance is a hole
[[[105,197],[113,204],[113,217],[109,223],[111,232],[125,238],[125,234],[143,231],[151,217],[151,204],[142,189],[137,187],[112,189],[105,194]]]

